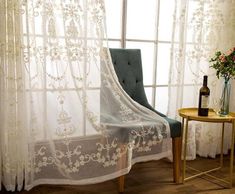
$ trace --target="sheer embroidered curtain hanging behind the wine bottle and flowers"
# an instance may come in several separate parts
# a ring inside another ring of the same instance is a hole
[[[210,107],[221,95],[223,80],[216,78],[208,61],[215,51],[235,46],[235,1],[177,0],[173,18],[168,116],[180,119],[179,108],[198,106],[203,75],[209,75]],[[232,90],[234,94],[234,87]],[[233,95],[230,100],[234,111]],[[197,122],[190,122],[189,127],[188,159],[196,154],[215,157],[220,148],[220,127]],[[229,147],[230,131],[226,130],[225,153]]]

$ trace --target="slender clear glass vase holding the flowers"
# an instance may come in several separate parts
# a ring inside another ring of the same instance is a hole
[[[229,79],[225,79],[224,84],[223,84],[222,95],[221,95],[221,108],[220,108],[221,116],[226,116],[229,114],[230,90],[231,90],[230,81]]]

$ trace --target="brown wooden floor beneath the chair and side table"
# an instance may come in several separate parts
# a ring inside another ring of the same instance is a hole
[[[218,165],[219,159],[198,158],[188,162],[197,168],[213,168]],[[125,194],[235,194],[235,176],[233,189],[226,189],[212,178],[201,177],[176,185],[172,182],[171,163],[167,160],[151,161],[135,164],[125,179]],[[214,173],[220,178],[228,175],[228,157],[225,158],[225,167]],[[202,169],[203,170],[203,169]],[[1,191],[1,194],[12,192]],[[41,185],[30,191],[16,192],[19,194],[118,194],[117,180],[86,186]]]

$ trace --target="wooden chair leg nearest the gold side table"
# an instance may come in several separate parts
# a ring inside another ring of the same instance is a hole
[[[182,153],[182,137],[172,138],[172,152],[173,152],[173,178],[175,183],[181,183],[181,153]]]

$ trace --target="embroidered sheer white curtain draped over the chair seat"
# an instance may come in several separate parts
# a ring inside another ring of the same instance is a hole
[[[7,190],[97,183],[170,155],[168,123],[118,83],[102,0],[0,0],[0,17]]]

